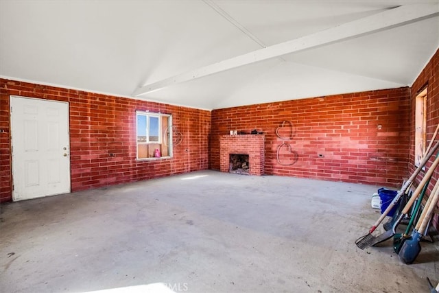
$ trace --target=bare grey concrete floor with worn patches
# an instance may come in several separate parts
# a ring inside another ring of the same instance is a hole
[[[429,292],[438,242],[355,245],[376,190],[204,171],[3,204],[0,291]]]

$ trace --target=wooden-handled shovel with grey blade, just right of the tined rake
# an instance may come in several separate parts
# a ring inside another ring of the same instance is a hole
[[[407,201],[407,204],[405,204],[405,207],[403,211],[401,212],[401,215],[399,215],[399,218],[394,222],[392,229],[389,229],[388,231],[385,231],[385,233],[382,233],[381,235],[375,237],[373,235],[370,235],[367,237],[365,241],[361,241],[357,246],[361,249],[364,249],[368,246],[374,246],[376,244],[379,244],[381,242],[385,242],[385,240],[390,239],[393,235],[396,234],[396,226],[403,220],[405,215],[409,213],[410,209],[412,208],[412,205],[416,198],[418,198],[418,195],[420,194],[423,187],[426,185],[427,182],[429,182],[431,175],[433,174],[436,167],[439,165],[439,154],[436,156],[436,159],[434,160],[433,165],[428,169],[427,173],[423,177],[423,180],[420,181],[418,187],[416,187],[412,197],[410,200]],[[386,209],[385,211],[387,211]],[[381,216],[382,217],[382,216]]]

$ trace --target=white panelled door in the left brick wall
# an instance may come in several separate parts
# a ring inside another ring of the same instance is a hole
[[[70,192],[69,104],[11,96],[12,199]]]

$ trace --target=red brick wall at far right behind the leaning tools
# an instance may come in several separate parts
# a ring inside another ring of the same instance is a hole
[[[427,93],[427,143],[431,141],[436,126],[439,124],[439,50],[428,62],[427,66],[420,73],[414,84],[412,85],[412,96],[410,103],[410,173],[415,169],[414,167],[414,117],[415,117],[415,98],[418,92],[428,86]],[[439,137],[436,137],[436,141]],[[427,163],[427,168],[433,163],[436,155],[433,156]],[[420,181],[422,174],[418,176],[417,182]],[[431,176],[429,184],[429,192],[433,189],[436,184],[436,180],[439,178],[439,169],[436,169],[433,176]],[[438,215],[435,217],[436,227],[439,228]]]

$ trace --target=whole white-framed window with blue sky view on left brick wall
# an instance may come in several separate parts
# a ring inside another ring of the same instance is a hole
[[[137,159],[172,156],[172,116],[160,113],[136,112]]]

